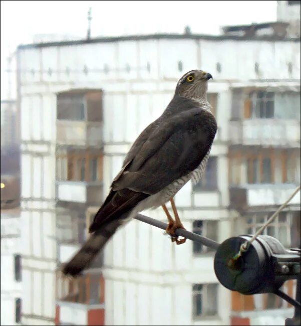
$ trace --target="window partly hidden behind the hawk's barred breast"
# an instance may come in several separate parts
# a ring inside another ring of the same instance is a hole
[[[210,156],[202,179],[193,186],[193,191],[217,190],[217,157]]]

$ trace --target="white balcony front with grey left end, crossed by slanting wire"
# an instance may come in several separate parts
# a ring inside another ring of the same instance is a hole
[[[230,203],[237,210],[249,207],[279,206],[295,190],[296,185],[243,185],[230,188]],[[300,205],[300,191],[292,198],[289,205]]]

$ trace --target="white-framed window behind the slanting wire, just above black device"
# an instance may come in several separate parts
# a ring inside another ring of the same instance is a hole
[[[273,213],[256,213],[247,217],[247,234],[255,234],[266,223]],[[278,239],[283,246],[290,247],[292,242],[292,222],[294,215],[291,212],[280,212],[275,220],[263,231],[263,235],[269,235]]]

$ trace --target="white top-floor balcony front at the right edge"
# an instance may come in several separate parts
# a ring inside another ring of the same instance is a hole
[[[230,121],[229,137],[232,144],[300,147],[300,121],[284,119]]]

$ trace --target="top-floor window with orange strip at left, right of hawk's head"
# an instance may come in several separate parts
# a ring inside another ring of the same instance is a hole
[[[245,118],[271,119],[274,117],[274,93],[252,92],[245,101]]]

